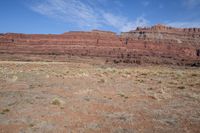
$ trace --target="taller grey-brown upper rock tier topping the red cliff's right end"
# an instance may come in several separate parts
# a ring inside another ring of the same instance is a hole
[[[156,25],[150,28],[137,28],[135,31],[122,33],[122,36],[131,37],[134,40],[196,46],[200,43],[200,28],[179,29]]]

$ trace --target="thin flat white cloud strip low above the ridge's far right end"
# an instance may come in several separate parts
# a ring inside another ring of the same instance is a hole
[[[170,22],[167,23],[167,25],[177,28],[193,28],[193,27],[200,28],[200,22]]]

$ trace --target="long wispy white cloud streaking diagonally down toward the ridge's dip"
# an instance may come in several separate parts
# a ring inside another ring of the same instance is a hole
[[[115,6],[123,6],[115,0]],[[129,20],[126,16],[108,12],[99,4],[106,5],[108,0],[39,0],[30,8],[44,16],[73,23],[78,27],[100,28],[111,26],[118,31],[129,31],[137,26],[146,26],[148,21],[140,16],[136,20]]]

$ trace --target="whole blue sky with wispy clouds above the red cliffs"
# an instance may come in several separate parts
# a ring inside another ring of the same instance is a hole
[[[1,0],[0,33],[200,27],[200,0]]]

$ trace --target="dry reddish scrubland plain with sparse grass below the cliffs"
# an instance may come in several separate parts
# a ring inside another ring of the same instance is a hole
[[[200,68],[0,62],[0,132],[200,132]]]

